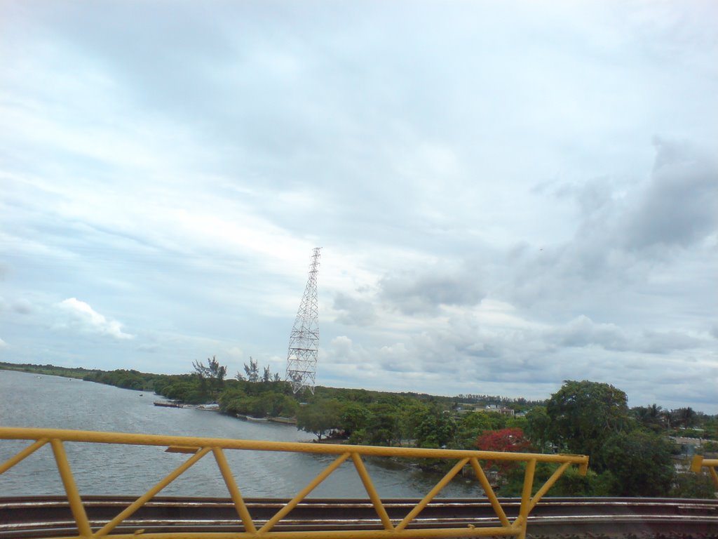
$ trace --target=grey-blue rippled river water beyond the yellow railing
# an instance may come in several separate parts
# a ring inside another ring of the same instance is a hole
[[[293,425],[251,423],[220,413],[153,405],[148,392],[0,370],[0,426],[67,428],[106,432],[206,436],[266,441],[311,441]],[[29,442],[0,440],[0,464]],[[67,456],[81,495],[139,495],[157,484],[188,456],[164,448],[66,443]],[[247,497],[293,497],[335,456],[274,451],[225,451],[242,494]],[[388,461],[366,467],[383,498],[424,497],[440,479]],[[64,494],[50,446],[44,446],[0,475],[0,496]],[[226,497],[215,460],[205,456],[169,484],[161,495]],[[477,482],[455,478],[442,497],[476,497]],[[366,492],[354,465],[345,462],[310,497],[364,498]]]

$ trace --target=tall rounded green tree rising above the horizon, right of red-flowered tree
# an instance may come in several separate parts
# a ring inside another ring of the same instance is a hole
[[[610,384],[567,380],[546,405],[549,439],[570,453],[586,454],[597,471],[605,469],[606,438],[628,428],[628,397]]]

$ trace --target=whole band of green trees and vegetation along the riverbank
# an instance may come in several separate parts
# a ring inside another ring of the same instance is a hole
[[[231,415],[296,417],[297,426],[318,441],[330,437],[381,446],[587,454],[588,474],[564,474],[551,489],[556,496],[714,496],[709,477],[676,471],[676,464],[686,459],[670,437],[704,438],[697,451],[718,451],[718,416],[690,407],[663,410],[655,404],[629,409],[625,392],[609,384],[567,381],[546,402],[331,387],[317,387],[314,395],[294,395],[279,374],[269,367],[259,369],[251,358],[244,373],[233,379],[226,378],[226,368],[214,357],[206,364],[195,361],[193,367],[191,374],[167,375],[0,364],[154,391],[180,402],[218,402],[220,410]],[[518,414],[506,413],[509,410]],[[421,466],[439,471],[442,463],[426,461]],[[520,494],[521,465],[486,467],[499,494]],[[538,466],[537,479],[547,479],[553,469]]]

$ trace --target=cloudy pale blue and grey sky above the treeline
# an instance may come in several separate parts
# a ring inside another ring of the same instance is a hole
[[[716,20],[0,0],[0,361],[718,413]]]

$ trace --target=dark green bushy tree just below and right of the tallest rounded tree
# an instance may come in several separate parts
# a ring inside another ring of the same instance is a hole
[[[602,448],[602,460],[615,477],[617,496],[668,496],[676,474],[671,443],[648,430],[615,433]]]

